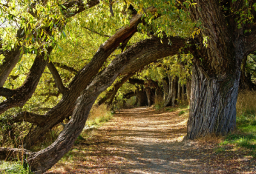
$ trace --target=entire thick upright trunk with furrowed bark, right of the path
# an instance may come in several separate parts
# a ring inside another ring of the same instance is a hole
[[[193,78],[188,121],[188,139],[206,134],[227,134],[236,127],[236,100],[241,61],[255,51],[255,28],[250,24],[237,27],[234,12],[245,8],[245,1],[201,1],[190,7],[191,19],[202,22],[202,33],[193,53]],[[253,1],[248,3],[252,6]],[[225,8],[223,8],[225,7]],[[254,14],[254,12],[253,12]],[[225,16],[227,15],[227,16]],[[244,35],[244,30],[252,33]],[[203,37],[207,36],[207,47]],[[249,51],[250,50],[250,51]]]

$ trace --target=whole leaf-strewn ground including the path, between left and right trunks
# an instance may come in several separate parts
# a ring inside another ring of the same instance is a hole
[[[256,173],[256,159],[217,138],[182,141],[188,116],[124,109],[86,137],[49,173]],[[222,147],[221,147],[222,148]]]

